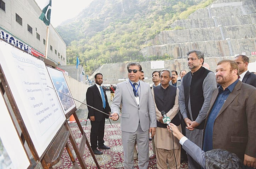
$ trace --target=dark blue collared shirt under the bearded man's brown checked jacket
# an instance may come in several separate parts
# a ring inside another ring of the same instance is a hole
[[[220,112],[224,102],[227,100],[229,94],[233,91],[238,80],[230,84],[224,91],[222,86],[219,87],[218,96],[214,102],[213,108],[211,109],[210,115],[207,119],[204,133],[204,145],[203,150],[209,151],[213,149],[213,126],[217,115]]]

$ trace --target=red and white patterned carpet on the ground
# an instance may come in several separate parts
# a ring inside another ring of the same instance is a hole
[[[91,126],[83,126],[84,131],[86,132],[86,137],[90,140],[90,129]],[[80,143],[81,133],[78,127],[71,127],[71,130],[76,138],[77,143]],[[103,155],[95,155],[101,169],[123,169],[123,147],[121,139],[120,124],[105,125],[105,145],[110,147],[110,150],[101,150]],[[71,145],[71,144],[70,144]],[[72,146],[71,146],[72,148]],[[75,155],[75,152],[73,151]],[[152,143],[150,141],[150,151],[149,155],[151,156],[152,152]],[[83,155],[85,163],[88,169],[96,169],[96,164],[89,152],[87,146],[85,148],[85,154]],[[77,160],[78,161],[78,160]],[[134,160],[134,167],[138,169],[138,161]],[[61,160],[54,165],[53,168],[56,169],[69,169],[71,168],[71,163],[69,160],[68,153],[64,150]],[[156,159],[149,161],[149,169],[156,169]],[[182,163],[180,169],[186,169],[187,163]],[[41,164],[37,164],[35,169],[42,169]]]

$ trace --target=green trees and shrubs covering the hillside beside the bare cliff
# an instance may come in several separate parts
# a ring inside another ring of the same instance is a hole
[[[66,50],[68,64],[76,64],[78,56],[87,74],[93,73],[104,63],[167,60],[171,59],[171,56],[144,58],[140,50],[146,46],[145,42],[154,38],[160,31],[170,30],[169,25],[173,21],[185,19],[197,9],[204,8],[213,1],[141,0],[136,2],[137,4],[129,4],[135,2],[126,1],[128,4],[124,4],[123,11],[119,13],[113,11],[116,8],[119,9],[118,6],[109,2],[105,3],[106,7],[104,6],[107,10],[104,13],[102,10],[99,11],[98,17],[90,18],[91,14],[90,17],[85,16],[74,23],[57,27],[57,30],[68,44]],[[126,10],[125,5],[133,6]],[[96,9],[97,6],[94,10]],[[85,20],[87,20],[86,24],[82,23]],[[72,33],[68,33],[70,30]]]

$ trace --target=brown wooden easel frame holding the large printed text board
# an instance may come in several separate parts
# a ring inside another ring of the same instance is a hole
[[[2,67],[0,65],[0,80],[1,80],[1,92],[2,94],[6,93],[7,98],[11,104],[12,110],[14,112],[15,117],[12,117],[12,119],[16,118],[19,124],[19,127],[21,128],[22,135],[24,136],[24,139],[28,143],[29,149],[31,151],[31,154],[33,155],[35,161],[40,161],[42,164],[42,167],[44,169],[52,169],[52,166],[55,165],[59,160],[60,157],[64,151],[64,148],[66,147],[66,150],[68,151],[68,154],[70,156],[71,162],[73,163],[72,168],[79,169],[78,163],[76,162],[76,159],[74,158],[74,155],[71,152],[70,146],[68,144],[68,139],[70,139],[72,145],[76,145],[76,141],[74,139],[74,136],[70,130],[70,127],[68,125],[68,122],[65,120],[62,127],[57,132],[54,139],[51,141],[50,145],[48,145],[47,149],[43,153],[41,157],[36,152],[35,146],[33,142],[31,141],[31,138],[29,136],[28,130],[24,124],[24,121],[21,117],[21,114],[19,112],[19,109],[17,107],[17,104],[13,98],[13,95],[11,93],[11,90],[8,86],[8,82],[6,81],[5,75],[2,71]],[[77,148],[77,145],[76,145]],[[74,148],[74,149],[76,149]],[[79,151],[76,152],[77,158],[82,159],[82,155],[79,154]],[[80,165],[82,169],[87,169],[85,162],[80,162]]]

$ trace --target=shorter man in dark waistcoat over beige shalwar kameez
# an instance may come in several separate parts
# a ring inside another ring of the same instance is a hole
[[[166,169],[168,161],[169,168],[180,168],[180,144],[177,138],[174,138],[168,130],[166,124],[163,124],[163,117],[161,112],[165,111],[166,116],[170,118],[171,123],[178,126],[181,131],[180,118],[179,118],[179,89],[169,84],[171,80],[171,73],[169,70],[164,69],[161,71],[160,81],[161,85],[153,88],[153,98],[156,107],[157,129],[155,134],[155,147],[157,168]],[[174,141],[174,147],[173,147]],[[176,157],[176,163],[174,154]]]

